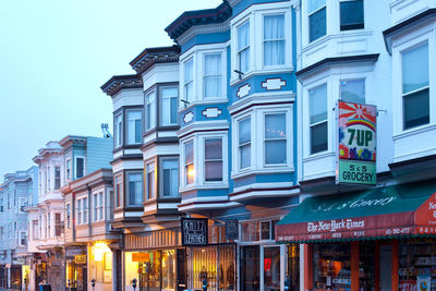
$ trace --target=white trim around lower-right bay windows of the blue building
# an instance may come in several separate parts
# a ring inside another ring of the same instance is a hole
[[[244,177],[253,173],[271,172],[293,172],[294,154],[293,154],[293,104],[270,105],[255,107],[250,111],[244,111],[232,117],[232,140],[239,141],[239,121],[251,118],[251,166],[244,169],[239,168],[239,144],[232,143],[232,172],[231,179]],[[286,113],[286,131],[287,131],[287,163],[283,165],[265,165],[265,114],[269,113]],[[259,131],[258,129],[262,129]]]

